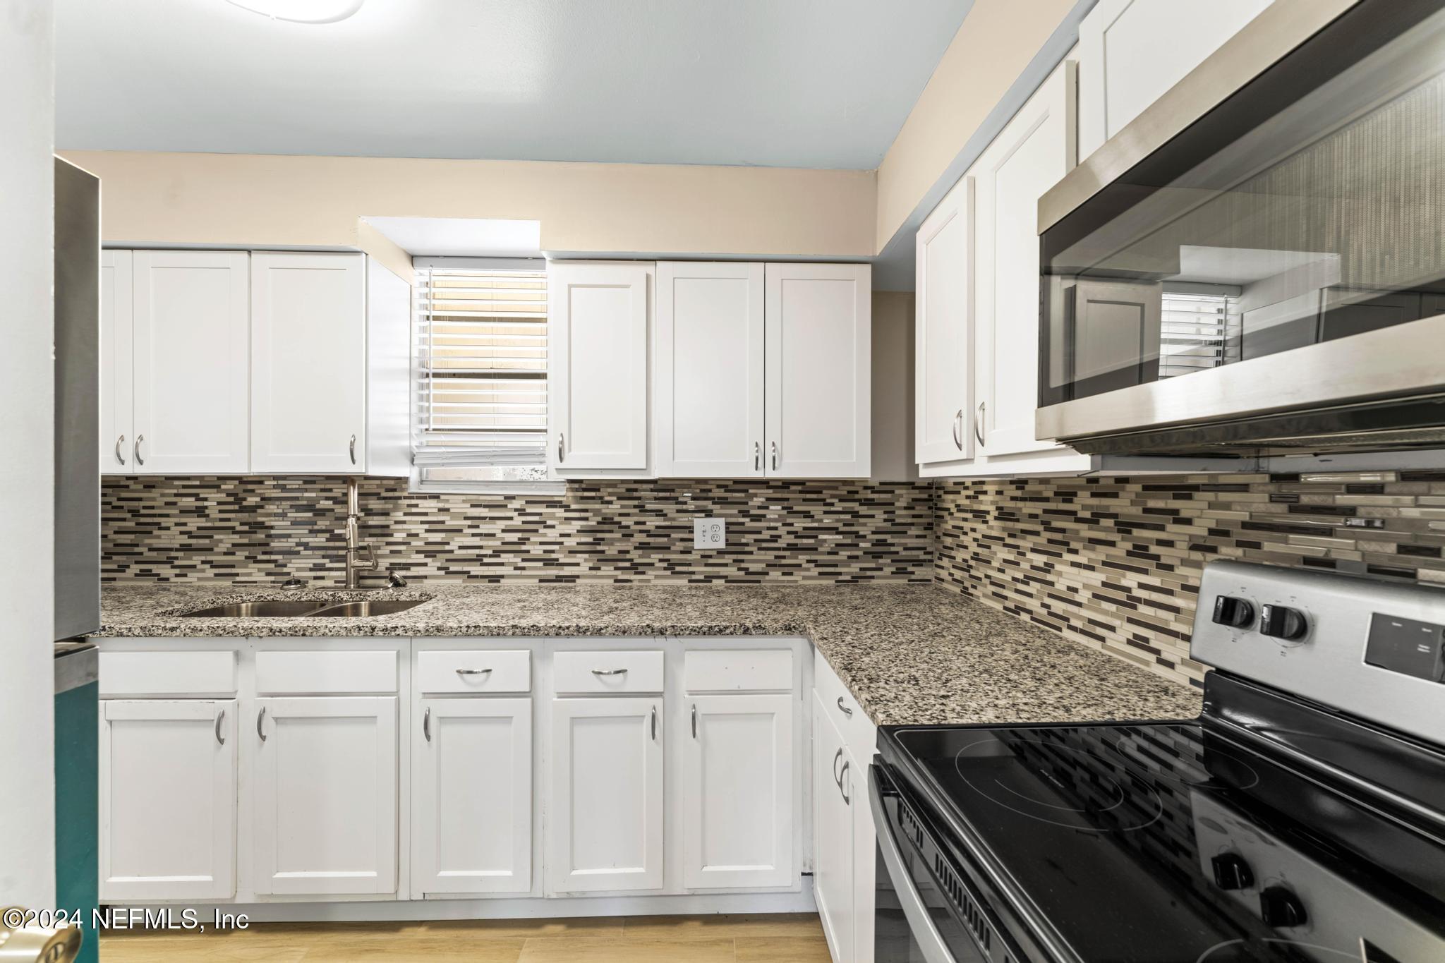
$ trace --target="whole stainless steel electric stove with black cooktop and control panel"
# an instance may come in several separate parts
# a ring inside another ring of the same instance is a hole
[[[884,726],[876,962],[1445,962],[1442,627],[1218,562],[1198,719]]]

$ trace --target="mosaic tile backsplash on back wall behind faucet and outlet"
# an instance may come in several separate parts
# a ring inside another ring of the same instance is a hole
[[[101,578],[340,582],[338,478],[110,476]],[[598,481],[564,495],[361,484],[361,536],[407,578],[470,582],[929,582],[933,494],[847,481]],[[727,549],[692,547],[692,518]]]

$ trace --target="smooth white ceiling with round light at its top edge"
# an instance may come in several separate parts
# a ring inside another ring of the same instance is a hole
[[[58,0],[72,150],[873,169],[972,0]]]

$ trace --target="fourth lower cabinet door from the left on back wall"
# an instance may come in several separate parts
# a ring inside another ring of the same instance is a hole
[[[662,888],[662,705],[552,703],[552,894]]]

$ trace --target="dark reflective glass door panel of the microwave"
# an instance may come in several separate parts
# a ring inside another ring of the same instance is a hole
[[[1361,4],[1045,231],[1042,407],[1445,315],[1420,9]]]

